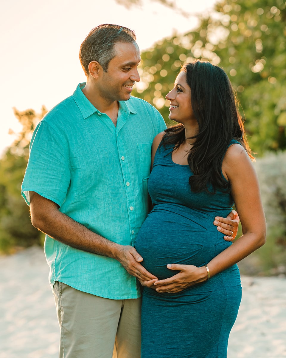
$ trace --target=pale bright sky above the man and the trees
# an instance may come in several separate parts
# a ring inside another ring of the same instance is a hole
[[[217,0],[177,0],[183,17],[152,0],[127,10],[115,0],[9,0],[1,4],[0,153],[21,127],[13,107],[48,110],[85,81],[79,47],[90,29],[113,23],[133,29],[141,50],[164,37],[198,25],[196,14],[211,11]]]

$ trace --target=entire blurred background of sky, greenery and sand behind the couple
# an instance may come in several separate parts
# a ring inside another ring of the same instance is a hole
[[[58,356],[44,237],[20,187],[34,128],[85,81],[79,47],[102,23],[135,31],[142,62],[132,94],[167,125],[165,96],[184,62],[201,58],[228,74],[267,219],[266,244],[238,264],[243,296],[228,358],[286,357],[286,1],[10,0],[1,15],[0,358]]]

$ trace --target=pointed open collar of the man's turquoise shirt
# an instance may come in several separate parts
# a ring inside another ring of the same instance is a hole
[[[92,103],[89,102],[87,97],[82,92],[86,82],[79,83],[77,88],[73,93],[73,99],[75,103],[77,103],[80,112],[83,115],[83,118],[86,119],[91,116],[93,113],[100,113],[97,108],[94,107]],[[131,101],[119,101],[120,111],[125,112],[127,114],[134,113],[136,114],[137,111],[135,110],[134,106],[132,105]]]

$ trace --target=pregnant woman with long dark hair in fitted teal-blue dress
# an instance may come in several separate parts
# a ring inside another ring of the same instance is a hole
[[[153,203],[135,242],[158,277],[142,282],[142,358],[226,358],[241,301],[236,263],[265,243],[266,223],[233,89],[208,62],[184,65],[166,96],[178,122],[153,142]],[[243,235],[213,217],[233,204]]]

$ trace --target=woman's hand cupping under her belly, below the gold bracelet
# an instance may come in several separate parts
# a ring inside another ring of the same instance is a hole
[[[206,267],[193,265],[178,265],[176,263],[167,265],[169,270],[180,271],[178,274],[165,280],[152,280],[156,291],[160,293],[177,293],[187,287],[194,286],[200,282],[207,281],[208,272]],[[151,282],[151,281],[149,281]]]

